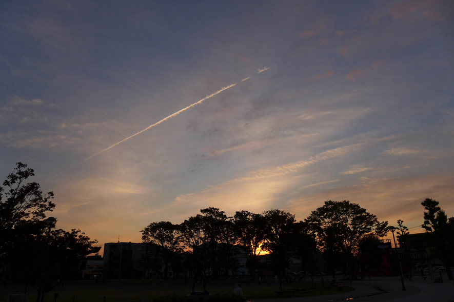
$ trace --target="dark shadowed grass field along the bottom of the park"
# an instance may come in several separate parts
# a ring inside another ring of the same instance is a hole
[[[238,280],[222,280],[208,282],[207,290],[210,294],[228,294],[232,293]],[[247,300],[276,298],[276,291],[280,290],[279,285],[274,285],[272,281],[262,281],[262,286],[257,283],[251,283],[248,280],[240,280],[244,297]],[[339,293],[337,287],[322,287],[321,283],[315,283],[315,288],[309,282],[298,284],[284,284],[283,290],[297,290],[294,292],[295,297],[326,295]],[[352,291],[347,284],[342,288],[343,292]],[[64,287],[56,287],[52,292],[47,293],[46,302],[126,302],[139,301],[140,299],[153,299],[157,296],[166,295],[187,295],[192,290],[192,284],[188,281],[178,279],[153,279],[153,280],[106,280],[104,283],[94,280],[68,281]],[[201,284],[197,284],[196,291],[202,291]],[[6,301],[7,294],[23,294],[25,285],[8,285],[7,288],[0,289],[0,301]],[[55,299],[54,294],[58,293]],[[292,297],[291,294],[281,295],[281,297]],[[105,297],[105,298],[104,298]],[[27,289],[27,302],[36,300],[36,287]]]

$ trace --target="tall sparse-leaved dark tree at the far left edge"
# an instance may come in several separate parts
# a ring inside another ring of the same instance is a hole
[[[33,169],[19,162],[14,170],[3,182],[4,187],[0,187],[0,257],[14,253],[17,245],[12,239],[16,226],[37,223],[55,208],[51,201],[53,192],[43,196],[39,184],[26,184],[27,178],[35,175]]]

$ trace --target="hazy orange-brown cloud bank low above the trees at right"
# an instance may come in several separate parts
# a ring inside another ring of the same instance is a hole
[[[393,224],[403,219],[407,226],[421,224],[426,197],[438,200],[448,216],[454,215],[454,204],[450,202],[454,194],[454,175],[430,174],[412,177],[358,178],[350,186],[340,186],[307,194],[290,200],[287,209],[304,219],[310,211],[323,206],[325,200],[350,200]],[[304,193],[303,193],[304,194]],[[414,231],[417,233],[417,231]],[[419,232],[419,231],[418,231]],[[422,230],[421,230],[422,232]]]

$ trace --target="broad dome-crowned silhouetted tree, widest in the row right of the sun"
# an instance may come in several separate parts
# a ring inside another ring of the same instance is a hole
[[[357,255],[360,241],[371,234],[384,236],[388,225],[388,222],[380,223],[377,216],[348,200],[327,200],[323,207],[312,211],[305,222],[317,236],[322,251],[339,251],[345,255],[353,277],[355,261],[351,256]]]

